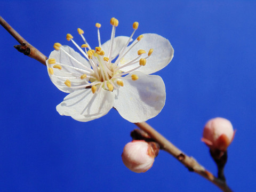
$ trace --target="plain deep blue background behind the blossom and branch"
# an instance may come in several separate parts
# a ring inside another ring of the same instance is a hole
[[[0,1],[0,14],[45,55],[77,28],[97,46],[116,35],[157,33],[169,39],[174,58],[158,71],[166,104],[148,123],[206,169],[217,173],[201,142],[208,119],[225,117],[237,130],[228,149],[227,182],[235,191],[255,191],[256,2],[255,1]],[[17,52],[0,27],[0,191],[219,191],[160,151],[146,173],[122,163],[135,125],[114,109],[88,123],[55,110],[66,93],[44,65]]]

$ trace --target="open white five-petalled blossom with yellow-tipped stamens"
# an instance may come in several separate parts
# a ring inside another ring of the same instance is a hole
[[[85,42],[81,46],[84,50],[67,34],[68,41],[84,57],[69,46],[54,44],[55,50],[46,61],[48,73],[59,90],[70,93],[57,111],[87,122],[106,115],[114,107],[127,121],[147,121],[160,113],[165,103],[162,78],[149,74],[168,65],[174,50],[166,38],[157,34],[143,34],[132,42],[138,22],[133,23],[130,37],[115,37],[118,20],[112,18],[110,23],[111,39],[102,45],[101,25],[96,23],[99,46],[95,50],[86,42],[82,29],[78,28],[78,33]]]

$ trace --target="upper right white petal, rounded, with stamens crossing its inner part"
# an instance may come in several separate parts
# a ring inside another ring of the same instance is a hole
[[[125,55],[124,59],[121,61],[121,66],[125,65],[125,63],[138,57],[138,50],[142,49],[146,51],[146,54],[141,55],[141,58],[145,58],[148,56],[148,51],[150,49],[154,49],[153,53],[147,59],[146,66],[140,67],[137,70],[145,74],[155,73],[156,71],[163,69],[165,66],[167,66],[171,62],[173,58],[174,50],[169,40],[160,35],[157,35],[157,34],[142,34],[142,35],[143,35],[143,38],[140,40],[140,42],[137,43],[137,45],[135,45],[131,49],[131,51],[129,51],[129,53]],[[127,49],[129,49],[129,47],[127,47]],[[122,71],[129,71],[137,66],[138,66],[138,63],[132,66],[124,67]]]

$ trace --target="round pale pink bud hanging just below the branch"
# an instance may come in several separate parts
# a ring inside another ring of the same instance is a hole
[[[135,173],[148,171],[154,163],[159,147],[144,140],[133,140],[124,146],[122,159],[124,165]]]

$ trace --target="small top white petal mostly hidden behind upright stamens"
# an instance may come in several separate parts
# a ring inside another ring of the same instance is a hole
[[[129,40],[130,37],[126,37],[126,36],[118,36],[115,37],[114,40],[114,47],[113,47],[113,52],[112,52],[112,59],[115,59],[116,56],[119,54],[119,52],[123,49],[124,45],[127,43],[127,41]],[[132,39],[131,39],[132,41]],[[101,48],[103,51],[105,51],[105,55],[108,55],[109,52],[109,45],[110,45],[110,40],[108,40],[107,42],[105,42]]]

